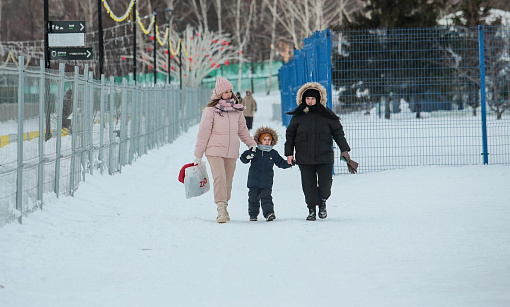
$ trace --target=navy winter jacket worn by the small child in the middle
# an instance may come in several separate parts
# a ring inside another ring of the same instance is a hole
[[[248,155],[255,154],[251,160],[247,159]],[[241,155],[243,163],[251,161],[250,171],[248,172],[248,188],[270,188],[273,186],[273,165],[279,168],[289,168],[290,164],[284,160],[280,154],[271,149],[271,151],[262,151],[257,148],[254,153],[251,150],[246,150]]]

